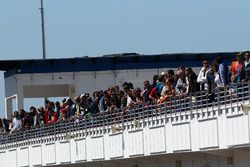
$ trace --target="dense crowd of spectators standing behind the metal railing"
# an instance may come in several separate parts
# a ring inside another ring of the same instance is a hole
[[[198,75],[191,67],[180,66],[178,70],[167,70],[154,75],[152,82],[145,80],[143,89],[134,87],[131,82],[120,86],[109,86],[107,90],[95,91],[92,96],[84,93],[62,102],[46,101],[45,107],[31,106],[29,112],[15,111],[10,119],[0,119],[0,136],[12,134],[19,129],[43,127],[46,124],[88,119],[96,114],[129,112],[143,104],[162,104],[171,97],[204,92],[213,100],[214,90],[250,80],[250,52],[239,53],[227,66],[220,56],[213,62],[204,59]]]

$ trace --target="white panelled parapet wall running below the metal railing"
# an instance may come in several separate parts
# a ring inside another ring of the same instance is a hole
[[[135,124],[132,121],[124,125],[123,131],[114,134],[111,131],[103,133],[103,128],[111,128],[106,126],[71,132],[71,139],[66,139],[66,134],[57,134],[34,139],[43,141],[37,144],[27,141],[18,148],[15,144],[23,142],[7,144],[0,147],[0,166],[49,166],[95,161],[110,165],[110,160],[129,159],[131,164],[127,165],[131,167],[134,164],[172,167],[176,160],[182,160],[182,166],[187,167],[230,167],[233,165],[228,163],[228,158],[233,157],[234,166],[247,167],[250,115],[237,110],[237,104],[221,109],[222,112],[218,112],[214,108],[216,113],[210,116],[198,115],[202,112],[198,110],[194,119],[176,119],[181,114],[152,117],[144,120],[146,124],[139,122],[138,127],[131,126]],[[187,116],[189,114],[186,112]],[[227,138],[230,139],[225,140]],[[116,163],[125,166],[122,161],[114,161]]]

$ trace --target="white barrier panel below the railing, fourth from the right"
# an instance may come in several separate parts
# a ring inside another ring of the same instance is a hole
[[[166,152],[166,134],[165,126],[149,128],[149,145],[150,153]]]

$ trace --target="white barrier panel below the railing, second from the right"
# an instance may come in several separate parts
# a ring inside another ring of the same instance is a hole
[[[199,121],[200,149],[219,147],[217,119]]]

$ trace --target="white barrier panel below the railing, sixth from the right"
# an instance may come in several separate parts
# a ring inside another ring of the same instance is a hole
[[[123,134],[113,134],[109,136],[109,153],[110,158],[123,157]]]

